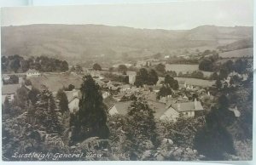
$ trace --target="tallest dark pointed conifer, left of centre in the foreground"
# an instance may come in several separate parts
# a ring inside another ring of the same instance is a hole
[[[79,111],[71,122],[72,143],[95,136],[102,139],[108,138],[107,107],[103,103],[100,86],[90,75],[84,76],[80,91],[82,97],[79,100]]]

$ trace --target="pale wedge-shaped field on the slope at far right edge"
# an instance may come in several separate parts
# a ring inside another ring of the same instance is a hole
[[[253,57],[253,48],[242,48],[219,54],[222,58]]]

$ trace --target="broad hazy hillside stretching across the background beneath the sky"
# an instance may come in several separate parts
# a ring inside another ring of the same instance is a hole
[[[2,27],[2,55],[55,55],[66,60],[109,60],[170,53],[177,48],[223,46],[253,36],[253,27],[199,26],[186,31],[100,25]]]

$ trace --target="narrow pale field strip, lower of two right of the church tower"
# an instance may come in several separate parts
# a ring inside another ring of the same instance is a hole
[[[188,85],[201,87],[211,87],[215,83],[215,81],[187,77],[175,77],[174,79],[176,79],[178,83],[187,83]]]

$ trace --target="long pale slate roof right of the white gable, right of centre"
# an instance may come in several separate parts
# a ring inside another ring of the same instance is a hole
[[[196,103],[196,104],[195,104]],[[190,101],[173,104],[172,107],[178,111],[177,105],[180,105],[180,111],[201,111],[204,110],[200,101]]]

